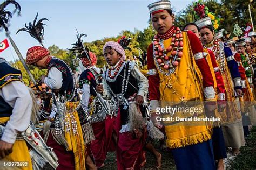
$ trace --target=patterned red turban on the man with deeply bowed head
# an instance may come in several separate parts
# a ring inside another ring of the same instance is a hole
[[[41,46],[33,46],[29,48],[28,52],[26,53],[26,63],[28,65],[32,65],[49,54],[50,52],[48,49]]]

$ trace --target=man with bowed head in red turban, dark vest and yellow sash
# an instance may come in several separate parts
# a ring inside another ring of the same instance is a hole
[[[28,49],[26,63],[48,69],[48,75],[42,76],[41,82],[52,90],[56,115],[52,116],[54,121],[45,134],[45,140],[59,158],[57,169],[85,169],[87,153],[84,144],[88,144],[94,136],[88,123],[89,115],[85,114],[80,104],[72,70],[63,60],[51,56],[48,49],[41,46]]]

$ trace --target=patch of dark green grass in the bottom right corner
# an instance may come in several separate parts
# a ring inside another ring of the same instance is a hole
[[[256,126],[245,138],[245,146],[240,148],[241,154],[234,158],[228,169],[256,169]]]

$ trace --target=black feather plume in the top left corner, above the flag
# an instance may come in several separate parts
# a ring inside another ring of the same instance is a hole
[[[21,5],[19,5],[16,1],[4,1],[0,5],[0,28],[3,28],[5,31],[8,31],[8,22],[9,19],[12,17],[12,13],[8,10],[5,10],[6,6],[8,6],[9,4],[15,5],[15,11],[13,13],[15,13],[16,10],[18,10],[19,15],[21,12]]]

